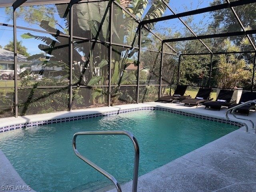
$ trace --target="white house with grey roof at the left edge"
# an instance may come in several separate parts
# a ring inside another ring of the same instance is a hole
[[[26,56],[17,54],[17,69],[18,74],[23,72],[26,69],[31,68],[22,68],[20,66],[23,64],[31,64],[34,61],[28,61]],[[4,80],[14,78],[14,53],[5,49],[0,48],[0,78]]]

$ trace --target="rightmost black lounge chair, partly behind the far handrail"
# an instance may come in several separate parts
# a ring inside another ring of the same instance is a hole
[[[228,108],[230,109],[230,108],[232,108],[234,106],[237,106],[237,105],[242,104],[244,102],[255,100],[255,99],[256,99],[256,92],[246,92],[246,91],[243,91],[238,104],[232,104],[232,105],[228,106]],[[237,108],[237,109],[235,109],[235,112],[236,113],[247,114],[247,116],[248,116],[250,110],[255,110],[256,111],[255,103],[251,103],[251,104],[242,106],[240,108]]]

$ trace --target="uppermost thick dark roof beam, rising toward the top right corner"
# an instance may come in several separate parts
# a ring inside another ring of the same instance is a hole
[[[158,21],[165,21],[165,20],[169,20],[169,19],[185,17],[185,16],[190,16],[190,15],[195,15],[195,14],[200,14],[200,13],[206,13],[206,12],[216,11],[216,10],[225,9],[225,8],[229,8],[229,7],[246,5],[246,4],[250,4],[250,3],[256,3],[256,0],[238,0],[238,1],[230,2],[230,4],[224,3],[224,4],[220,4],[220,5],[215,5],[215,6],[196,9],[196,10],[187,11],[187,12],[183,12],[183,13],[178,13],[176,15],[169,15],[169,16],[164,16],[164,17],[160,17],[160,18],[144,20],[141,23],[148,24],[148,23],[153,23],[153,22],[158,22]]]

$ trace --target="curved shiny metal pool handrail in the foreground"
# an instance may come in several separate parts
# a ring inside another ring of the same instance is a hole
[[[110,179],[118,192],[122,192],[120,184],[118,181],[108,172],[91,162],[88,158],[82,156],[78,150],[76,149],[76,137],[78,135],[126,135],[128,136],[134,145],[135,150],[135,158],[134,158],[134,172],[133,172],[133,183],[132,183],[132,192],[137,192],[137,185],[138,185],[138,170],[139,170],[139,158],[140,158],[140,150],[139,150],[139,144],[134,137],[134,135],[131,132],[128,131],[88,131],[88,132],[77,132],[73,136],[73,150],[80,159],[82,159],[84,162],[92,166],[94,169],[96,169],[98,172],[106,176],[108,179]]]

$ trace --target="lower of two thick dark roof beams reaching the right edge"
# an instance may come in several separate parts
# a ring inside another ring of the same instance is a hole
[[[163,40],[163,42],[177,42],[177,41],[187,41],[187,40],[196,40],[196,39],[208,39],[208,38],[219,38],[219,37],[250,35],[250,34],[256,34],[256,29],[254,29],[254,30],[247,30],[247,31],[211,34],[211,35],[201,35],[201,36],[194,36],[194,37],[183,37],[183,38],[175,38],[175,39],[166,39],[166,40]]]

